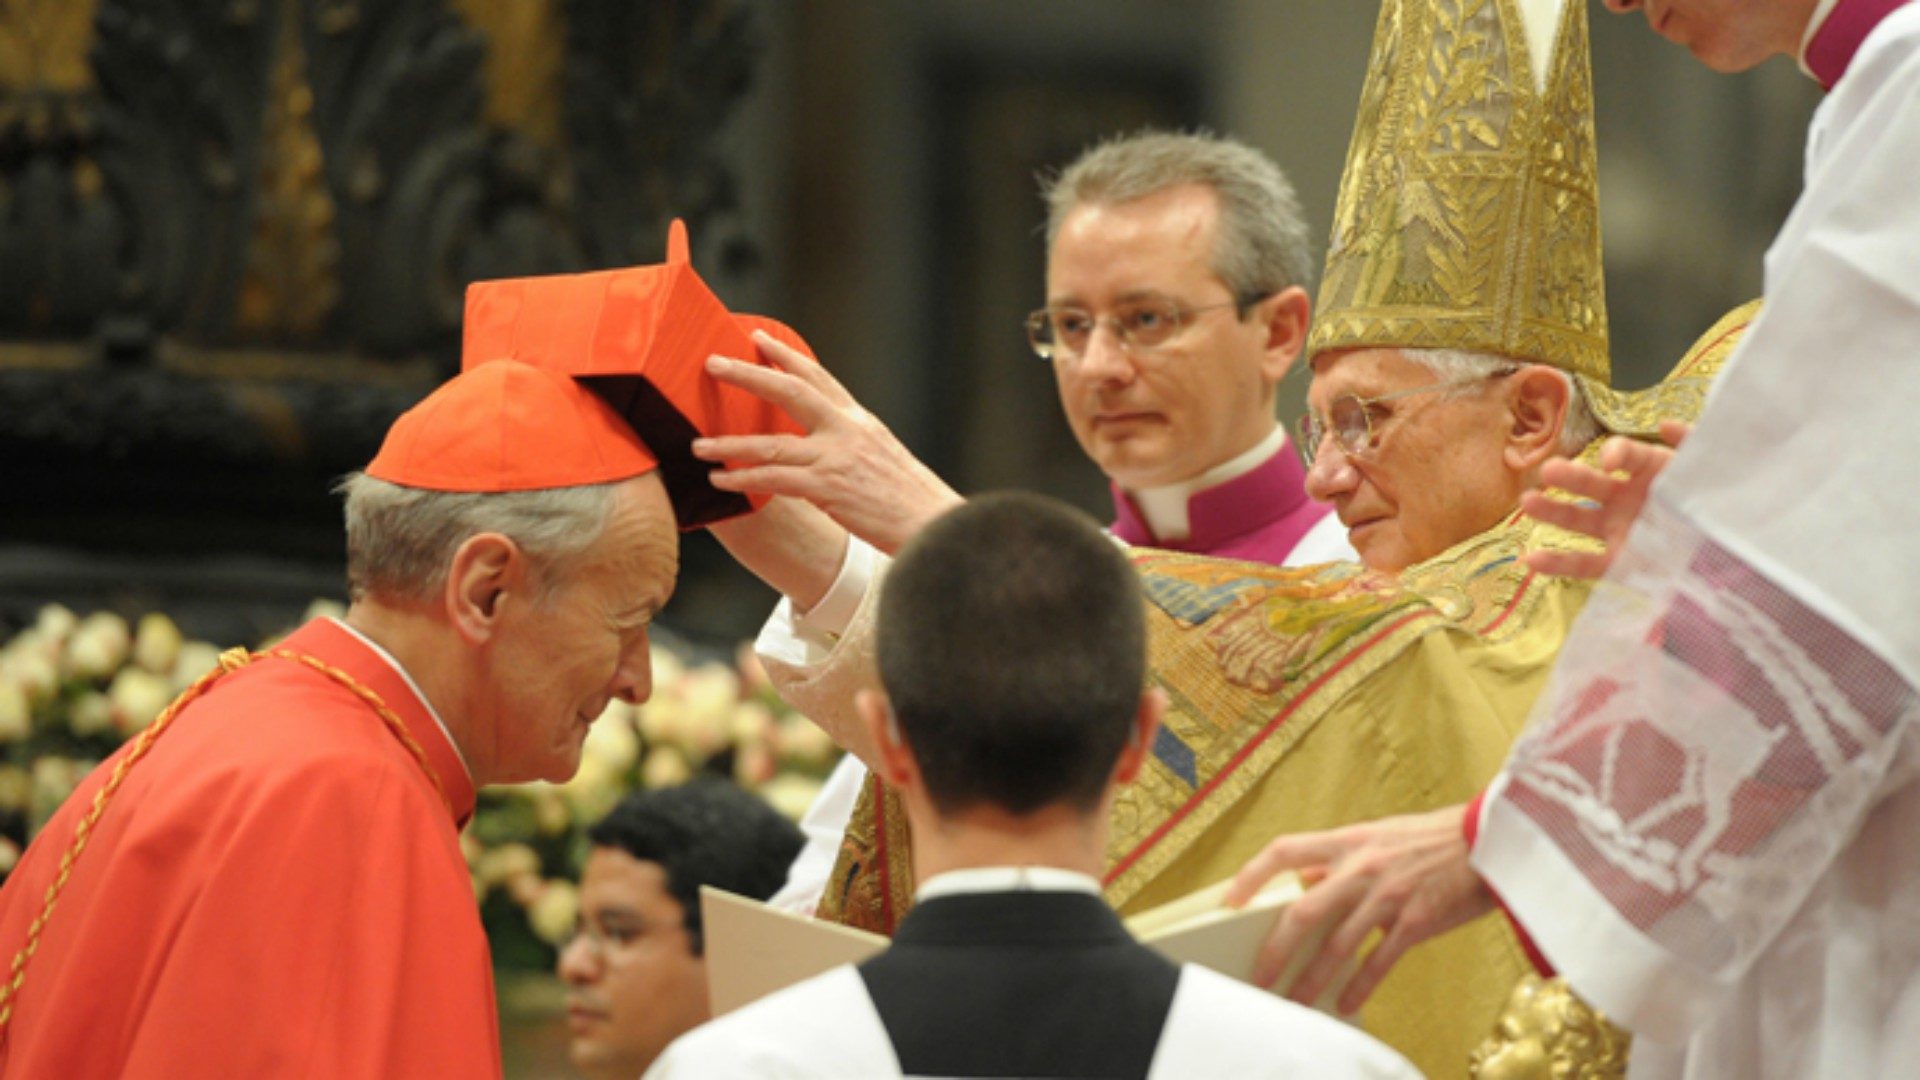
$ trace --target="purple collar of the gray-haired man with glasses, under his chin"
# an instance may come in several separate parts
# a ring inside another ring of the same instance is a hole
[[[1127,544],[1219,559],[1281,565],[1294,544],[1332,513],[1308,498],[1306,469],[1284,446],[1252,473],[1187,500],[1187,540],[1160,540],[1127,492],[1114,486],[1114,536]]]

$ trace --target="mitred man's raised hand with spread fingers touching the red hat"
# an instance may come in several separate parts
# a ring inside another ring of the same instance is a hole
[[[714,356],[707,373],[780,405],[806,434],[693,440],[695,457],[730,465],[710,475],[716,488],[803,498],[889,555],[962,502],[826,367],[766,332],[753,340],[774,367]]]

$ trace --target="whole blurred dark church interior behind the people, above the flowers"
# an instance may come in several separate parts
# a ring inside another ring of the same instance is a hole
[[[958,488],[1104,511],[1025,348],[1035,173],[1204,125],[1325,236],[1354,0],[0,0],[0,630],[242,642],[338,596],[328,484],[459,359],[465,282],[657,261],[781,317]],[[1594,12],[1617,382],[1759,292],[1811,81]],[[1298,411],[1304,373],[1283,394]],[[666,623],[770,596],[705,536]]]

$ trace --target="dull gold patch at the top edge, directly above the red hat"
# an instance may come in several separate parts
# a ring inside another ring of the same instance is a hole
[[[453,0],[488,40],[486,119],[540,146],[561,146],[566,19],[559,0]]]

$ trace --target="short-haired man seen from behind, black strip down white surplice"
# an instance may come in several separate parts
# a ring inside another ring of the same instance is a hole
[[[1334,1019],[1135,942],[1100,897],[1165,700],[1119,548],[1039,496],[916,536],[856,707],[922,882],[893,947],[697,1028],[649,1076],[1417,1076]]]

